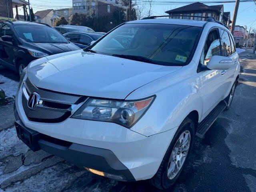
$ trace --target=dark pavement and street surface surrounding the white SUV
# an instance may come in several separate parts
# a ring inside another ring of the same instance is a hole
[[[184,174],[169,191],[256,192],[256,55],[251,52],[240,53],[241,77],[230,110],[204,138],[196,138]],[[0,75],[18,80],[1,67]],[[160,191],[147,181],[110,180],[41,150],[32,152],[16,136],[12,107],[0,107],[0,192]]]

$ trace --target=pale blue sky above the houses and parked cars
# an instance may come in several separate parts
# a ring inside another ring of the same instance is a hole
[[[186,5],[186,4],[173,4],[173,3],[170,3],[170,4],[164,3],[165,5],[161,5],[160,3],[164,1],[168,2],[168,1],[178,1],[178,0],[153,0],[153,1],[154,1],[154,5],[152,5],[153,15],[165,15],[164,12],[167,10],[171,10],[171,9]],[[183,0],[183,1],[194,1],[194,0]],[[204,0],[204,1],[210,1],[210,0]],[[216,0],[216,1],[222,1],[222,0]],[[132,2],[134,2],[134,0]],[[72,7],[72,0],[30,0],[30,4],[35,13],[36,11],[45,10],[45,9],[60,9],[60,8]],[[231,20],[232,20],[235,3],[214,3],[214,4],[208,3],[207,5],[218,5],[218,4],[224,4],[224,12],[230,12]],[[146,8],[144,8],[145,12],[148,11],[148,8],[149,6],[146,6]],[[15,14],[15,10],[14,10],[14,14]],[[22,7],[19,8],[19,14],[23,15]],[[239,8],[238,8],[238,16],[236,19],[236,25],[247,26],[248,30],[250,29],[250,27],[256,29],[256,4],[254,2],[240,2]]]

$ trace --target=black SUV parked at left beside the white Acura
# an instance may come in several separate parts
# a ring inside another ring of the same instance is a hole
[[[0,20],[0,64],[19,74],[32,60],[79,49],[46,24]]]

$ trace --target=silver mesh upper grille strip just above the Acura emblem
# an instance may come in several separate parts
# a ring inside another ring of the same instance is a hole
[[[67,104],[76,104],[76,102],[82,97],[77,95],[71,95],[71,94],[64,94],[60,92],[54,92],[50,90],[43,90],[40,88],[37,88],[30,82],[30,80],[27,78],[24,82],[26,86],[26,90],[28,92],[28,95],[30,95],[33,92],[37,92],[42,100],[48,100],[51,102],[59,102],[59,103],[67,103]]]

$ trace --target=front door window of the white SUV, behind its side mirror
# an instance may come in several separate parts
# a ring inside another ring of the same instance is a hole
[[[200,63],[207,65],[214,55],[221,55],[220,37],[216,29],[212,30],[207,36]]]

